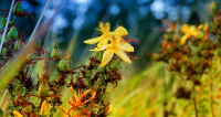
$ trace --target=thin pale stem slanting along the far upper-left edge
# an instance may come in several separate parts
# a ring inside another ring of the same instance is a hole
[[[2,38],[1,38],[0,53],[1,53],[1,49],[2,49],[2,46],[3,46],[3,41],[4,41],[4,36],[6,36],[6,34],[7,34],[7,30],[8,30],[8,25],[9,25],[9,22],[10,22],[11,12],[12,12],[12,9],[13,9],[14,1],[15,1],[15,0],[12,0],[12,2],[11,2],[11,8],[10,8],[9,15],[8,15],[8,19],[7,19],[7,24],[6,24],[6,26],[4,26],[3,35],[2,35]]]

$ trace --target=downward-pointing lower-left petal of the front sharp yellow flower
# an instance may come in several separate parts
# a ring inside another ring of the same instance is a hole
[[[114,55],[114,49],[107,49],[102,59],[102,66],[105,66],[113,57]]]

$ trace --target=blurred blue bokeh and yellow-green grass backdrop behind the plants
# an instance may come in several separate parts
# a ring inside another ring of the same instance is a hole
[[[51,0],[41,24],[50,18],[60,2],[63,0]],[[217,6],[220,0],[214,0]],[[31,12],[34,20],[29,15],[19,18],[15,25],[23,30],[29,39],[48,0],[21,0],[24,12]],[[75,41],[72,65],[77,66],[90,56],[88,50],[94,45],[86,45],[83,41],[96,38],[99,32],[98,22],[110,22],[114,31],[117,24],[127,29],[129,39],[137,40],[131,43],[135,47],[133,64],[123,64],[123,81],[118,82],[116,88],[110,88],[110,113],[109,116],[157,116],[156,111],[162,111],[162,103],[168,97],[158,95],[164,89],[157,86],[164,85],[167,75],[164,64],[151,65],[148,52],[159,50],[161,32],[156,28],[166,28],[161,20],[180,23],[200,24],[209,21],[208,7],[211,0],[69,0],[62,12],[53,22],[51,30],[45,35],[42,44],[50,51],[53,41],[57,40],[60,50],[65,51],[70,41]],[[9,9],[11,0],[0,0],[1,9]],[[0,15],[1,17],[1,15]],[[126,68],[126,67],[127,68]],[[124,68],[125,67],[125,68]]]

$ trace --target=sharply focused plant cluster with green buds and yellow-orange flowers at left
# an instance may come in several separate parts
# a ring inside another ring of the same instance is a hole
[[[8,10],[1,10],[3,14]],[[21,1],[13,7],[14,19],[9,23],[6,41],[0,54],[0,68],[7,67],[9,61],[14,55],[20,54],[20,50],[25,46],[25,34],[15,26],[15,20],[19,17],[31,13],[23,12]],[[7,18],[1,20],[1,33],[4,32]],[[110,23],[99,22],[102,35],[85,41],[88,44],[95,44],[96,47],[91,51],[98,51],[95,55],[90,56],[88,64],[78,67],[72,67],[71,53],[62,55],[56,43],[51,52],[44,50],[42,45],[36,45],[34,51],[25,57],[25,64],[15,76],[10,81],[6,91],[10,94],[10,105],[4,116],[10,117],[53,117],[54,113],[60,109],[64,116],[69,117],[105,117],[109,114],[109,102],[107,100],[108,84],[117,86],[122,79],[119,70],[122,60],[131,63],[128,52],[134,52],[134,47],[128,43],[133,40],[126,39],[128,34],[124,26],[118,26],[110,32]],[[109,43],[110,42],[110,43]],[[109,43],[109,44],[108,44]],[[119,56],[114,55],[114,53]],[[45,54],[50,59],[45,59]],[[46,61],[45,61],[46,60]],[[52,61],[52,65],[49,65]],[[42,74],[33,75],[36,64],[43,64]],[[49,68],[55,66],[53,72]],[[1,73],[7,74],[7,73]],[[53,74],[53,75],[52,75]],[[55,74],[55,75],[54,75]],[[63,88],[70,88],[72,99],[69,100],[70,108],[63,109],[61,105]]]

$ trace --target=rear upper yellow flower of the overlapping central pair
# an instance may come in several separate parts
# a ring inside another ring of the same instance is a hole
[[[108,43],[108,41],[112,40],[112,34],[114,34],[115,36],[124,36],[127,35],[128,32],[125,28],[123,26],[118,26],[114,32],[109,32],[110,31],[110,23],[103,23],[99,22],[99,29],[97,29],[98,31],[101,31],[101,36],[95,38],[95,39],[90,39],[84,41],[84,43],[87,44],[95,44],[98,42],[97,46],[102,46],[102,45],[106,45]]]

